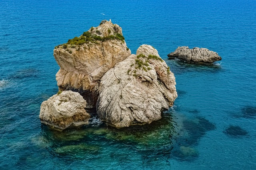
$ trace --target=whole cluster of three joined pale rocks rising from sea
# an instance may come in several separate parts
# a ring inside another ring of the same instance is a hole
[[[87,124],[84,107],[96,107],[100,120],[117,128],[151,123],[177,98],[174,74],[158,51],[142,45],[131,55],[111,21],[56,46],[54,57],[63,92],[42,103],[40,120],[55,129]]]

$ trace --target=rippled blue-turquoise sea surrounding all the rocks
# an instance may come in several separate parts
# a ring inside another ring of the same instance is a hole
[[[53,49],[104,19],[132,53],[158,50],[178,98],[148,126],[51,131],[39,112],[58,92]],[[222,61],[168,60],[184,45]],[[0,0],[0,169],[256,169],[255,47],[255,0]]]

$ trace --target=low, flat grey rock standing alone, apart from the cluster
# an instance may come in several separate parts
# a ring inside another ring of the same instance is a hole
[[[206,48],[194,47],[193,49],[187,46],[178,47],[174,52],[167,55],[170,59],[178,58],[188,63],[209,64],[214,61],[220,61],[221,57],[218,53],[210,51]]]

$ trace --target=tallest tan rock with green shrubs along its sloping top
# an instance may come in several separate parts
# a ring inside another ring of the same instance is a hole
[[[100,78],[130,54],[122,28],[111,21],[103,21],[54,49],[60,66],[56,74],[59,89],[79,92],[87,101],[87,108],[95,107]]]

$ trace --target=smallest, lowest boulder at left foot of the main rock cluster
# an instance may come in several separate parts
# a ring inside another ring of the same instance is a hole
[[[67,127],[86,125],[90,115],[85,107],[86,101],[78,92],[64,91],[42,102],[40,121],[60,131]]]

